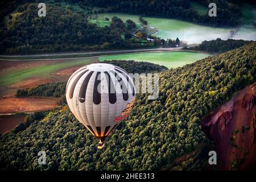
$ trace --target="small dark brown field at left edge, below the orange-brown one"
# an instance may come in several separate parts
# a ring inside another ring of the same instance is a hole
[[[10,132],[18,125],[20,122],[24,121],[24,115],[4,115],[0,116],[0,133]]]

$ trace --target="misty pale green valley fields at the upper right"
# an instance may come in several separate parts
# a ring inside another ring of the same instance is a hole
[[[122,13],[104,13],[90,16],[92,22],[98,26],[109,26],[113,16],[121,18],[123,21],[127,19],[133,20],[137,24],[139,22],[139,15],[122,14]],[[243,39],[243,40],[256,40],[256,28],[253,26],[254,19],[256,18],[256,9],[251,6],[244,6],[242,8],[242,25],[233,28],[216,28],[201,26],[194,23],[185,22],[176,19],[167,18],[153,18],[144,16],[148,22],[148,30],[154,36],[159,36],[163,39],[176,39],[179,38],[188,44],[199,44],[204,40],[213,40],[216,38],[221,39]]]

